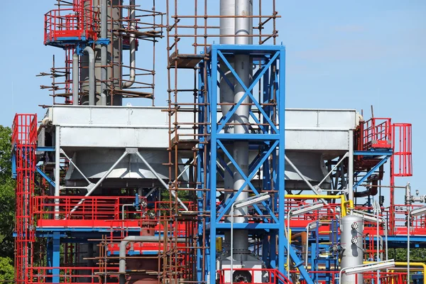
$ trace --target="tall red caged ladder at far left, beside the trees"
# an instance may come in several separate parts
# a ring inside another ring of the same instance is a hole
[[[12,147],[16,157],[16,212],[15,212],[15,281],[27,283],[33,264],[33,192],[37,116],[16,114],[12,126]]]

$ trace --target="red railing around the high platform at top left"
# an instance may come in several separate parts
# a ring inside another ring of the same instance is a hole
[[[84,8],[86,7],[86,8]],[[96,40],[97,13],[92,0],[79,1],[72,9],[55,9],[45,13],[44,44],[61,40]]]

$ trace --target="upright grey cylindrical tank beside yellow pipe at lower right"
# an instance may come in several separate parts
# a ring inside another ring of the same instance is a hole
[[[359,266],[363,263],[363,232],[364,221],[361,217],[347,215],[342,218],[340,224],[340,244],[342,246],[342,259],[340,269]],[[362,273],[346,275],[342,273],[340,284],[362,284]]]

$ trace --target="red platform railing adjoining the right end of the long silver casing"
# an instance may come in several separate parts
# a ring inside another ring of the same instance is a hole
[[[391,119],[373,118],[361,125],[359,151],[371,148],[392,148]]]

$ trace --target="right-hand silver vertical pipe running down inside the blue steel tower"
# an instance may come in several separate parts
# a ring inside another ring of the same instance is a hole
[[[250,0],[236,0],[235,1],[235,16],[251,16],[252,11],[252,1]],[[247,45],[251,44],[252,39],[250,27],[252,18],[235,18],[235,44]],[[243,36],[238,36],[243,35]],[[251,75],[251,62],[249,55],[235,55],[235,71],[236,74],[240,77],[244,85],[249,86],[250,84],[250,75]],[[246,91],[241,84],[236,84],[234,86],[234,103],[238,103],[239,100],[244,97]],[[249,124],[249,104],[250,99],[246,97],[243,104],[236,109],[234,114],[234,123],[237,124],[234,126],[234,133],[248,133],[248,124]],[[234,160],[236,164],[241,168],[243,173],[247,176],[249,173],[249,142],[247,141],[237,141],[234,143]],[[234,171],[234,191],[238,191],[240,187],[244,184],[244,178],[239,174],[238,171]],[[244,187],[244,190],[236,197],[235,202],[240,200],[246,200],[249,197],[247,192],[248,187]],[[247,207],[242,207],[233,212],[233,214],[247,215]],[[246,217],[235,217],[234,222],[244,223],[247,222]],[[249,249],[249,231],[247,230],[238,230],[235,232],[234,238],[235,244],[234,253],[237,261],[245,261],[247,258],[246,251]],[[232,277],[232,276],[231,276]]]

